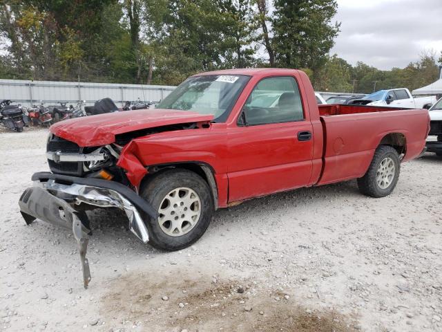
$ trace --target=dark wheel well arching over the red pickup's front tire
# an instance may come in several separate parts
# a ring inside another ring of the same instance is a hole
[[[213,171],[211,166],[205,163],[171,163],[165,165],[151,166],[148,167],[148,174],[144,178],[143,182],[145,183],[146,181],[151,181],[151,179],[154,178],[157,174],[160,174],[164,170],[171,168],[187,169],[201,176],[211,189],[213,196],[213,206],[215,207],[215,210],[218,209],[218,187],[216,185],[215,176],[213,175],[215,174],[215,172]]]

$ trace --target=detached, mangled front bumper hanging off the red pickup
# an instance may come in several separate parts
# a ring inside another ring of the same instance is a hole
[[[84,287],[90,282],[86,247],[90,225],[85,210],[90,208],[119,208],[126,212],[128,227],[144,243],[148,230],[140,212],[156,218],[152,206],[136,192],[113,181],[78,178],[40,172],[32,175],[34,187],[27,188],[19,199],[20,212],[29,225],[41,219],[73,230],[79,245]]]

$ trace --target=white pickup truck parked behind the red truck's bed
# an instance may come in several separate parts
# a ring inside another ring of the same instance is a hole
[[[436,97],[413,98],[406,88],[379,90],[364,98],[354,100],[352,104],[369,106],[404,107],[406,109],[429,109],[436,102]]]

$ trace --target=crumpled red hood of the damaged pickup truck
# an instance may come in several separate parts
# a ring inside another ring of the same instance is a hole
[[[115,142],[115,135],[141,129],[186,122],[209,122],[212,115],[170,109],[139,109],[85,116],[52,124],[50,132],[77,143],[80,147],[96,147]]]

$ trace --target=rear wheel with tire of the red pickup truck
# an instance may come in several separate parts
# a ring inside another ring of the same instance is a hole
[[[381,173],[378,174],[380,167]],[[393,170],[394,174],[392,174]],[[362,178],[358,178],[359,191],[375,198],[390,195],[396,187],[400,172],[401,160],[396,149],[388,145],[380,145],[374,151],[367,173]]]

